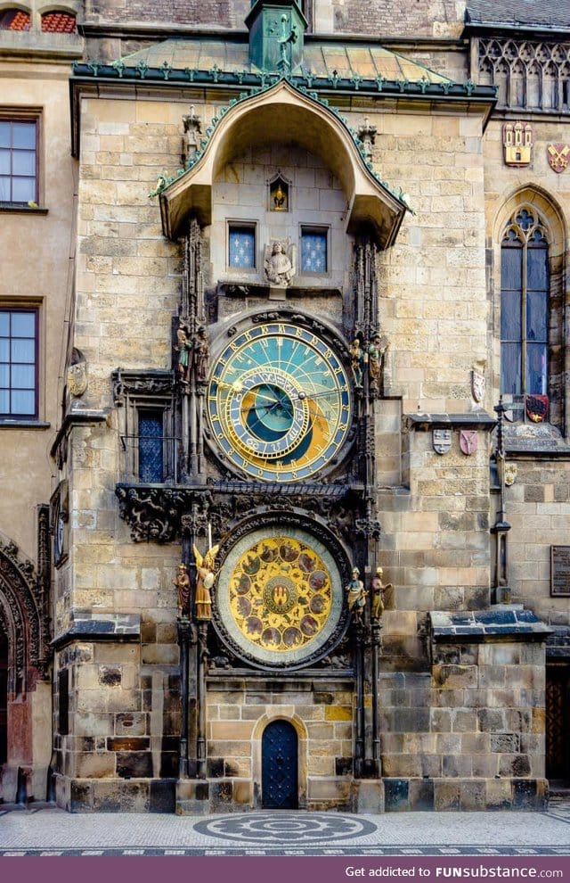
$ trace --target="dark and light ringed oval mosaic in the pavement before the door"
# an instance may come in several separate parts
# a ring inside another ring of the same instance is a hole
[[[194,826],[199,834],[242,843],[295,844],[336,843],[338,840],[360,838],[373,834],[377,826],[371,821],[336,813],[249,813],[226,815],[199,821]]]

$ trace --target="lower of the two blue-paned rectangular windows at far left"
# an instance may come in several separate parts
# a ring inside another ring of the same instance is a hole
[[[37,417],[36,309],[0,309],[0,417]]]

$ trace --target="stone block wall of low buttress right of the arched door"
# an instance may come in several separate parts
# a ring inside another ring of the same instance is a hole
[[[386,811],[544,805],[541,643],[438,642],[431,674],[380,676]]]

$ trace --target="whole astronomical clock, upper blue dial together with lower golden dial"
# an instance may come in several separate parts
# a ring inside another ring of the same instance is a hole
[[[322,482],[352,447],[353,380],[346,346],[314,325],[281,310],[232,328],[205,390],[210,456],[249,509],[221,544],[214,629],[267,670],[313,664],[346,632],[347,550],[310,509],[339,491]]]

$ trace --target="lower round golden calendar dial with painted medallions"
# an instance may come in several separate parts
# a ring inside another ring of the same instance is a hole
[[[304,531],[275,526],[243,538],[224,561],[218,585],[224,631],[259,662],[318,655],[338,625],[338,568],[330,550]]]

